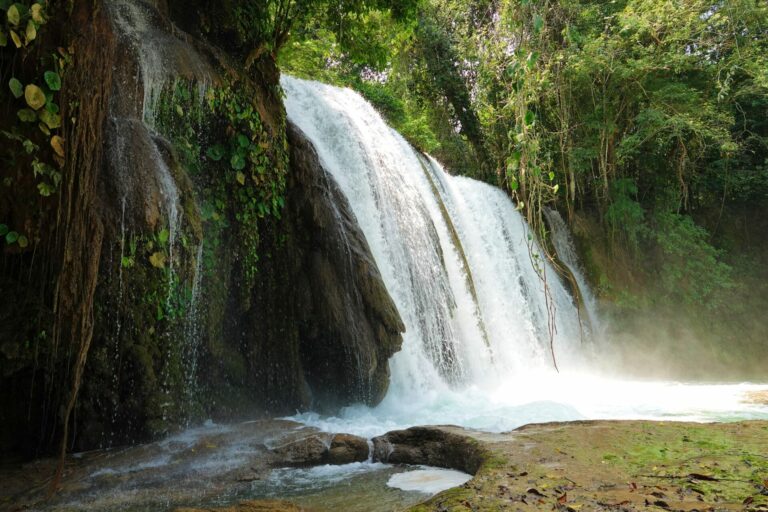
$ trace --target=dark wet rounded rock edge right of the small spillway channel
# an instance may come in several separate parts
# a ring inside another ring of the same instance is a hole
[[[485,455],[479,443],[440,427],[393,430],[373,438],[373,460],[392,464],[423,464],[475,474]]]

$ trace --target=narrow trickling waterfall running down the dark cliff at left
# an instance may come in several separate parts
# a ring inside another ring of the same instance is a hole
[[[185,200],[189,198],[184,194],[191,192],[177,182],[177,162],[164,138],[170,134],[162,133],[158,113],[163,94],[176,90],[180,83],[196,87],[198,101],[204,101],[214,73],[183,32],[161,14],[163,4],[155,0],[106,2],[121,51],[130,54],[126,65],[115,68],[119,91],[110,105],[110,157],[116,188],[123,195],[119,293],[122,297],[127,209],[131,229],[143,237],[143,243],[152,243],[152,250],[165,253],[162,259],[150,259],[152,265],[162,269],[167,281],[164,305],[157,305],[158,311],[164,309],[165,323],[156,333],[153,330],[158,345],[164,347],[159,363],[162,368],[158,370],[162,418],[175,421],[177,416],[184,416],[189,421],[194,416],[203,331],[203,241],[196,247],[189,243],[190,223],[184,215]],[[121,332],[119,315],[116,352]]]

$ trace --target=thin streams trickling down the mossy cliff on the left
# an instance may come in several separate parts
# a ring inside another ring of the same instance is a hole
[[[157,140],[156,132],[156,114],[158,111],[159,100],[163,92],[172,91],[180,82],[192,82],[197,87],[197,99],[203,101],[205,93],[212,84],[213,73],[207,64],[197,53],[194,46],[184,39],[182,31],[170,27],[171,23],[165,19],[158,9],[162,2],[157,0],[109,0],[106,3],[110,19],[116,29],[116,34],[120,41],[126,45],[136,59],[138,67],[136,73],[140,76],[128,79],[127,82],[135,84],[136,89],[132,91],[122,91],[122,95],[129,97],[133,93],[137,107],[133,112],[120,112],[120,115],[128,116],[130,119],[122,119],[120,122],[140,123],[142,133],[146,133],[152,139],[151,162],[153,163],[154,184],[149,187],[159,192],[157,196],[158,208],[162,213],[164,225],[155,227],[156,231],[167,235],[165,241],[160,241],[160,246],[167,244],[167,293],[166,310],[171,311],[175,306],[174,300],[182,292],[181,286],[185,283],[179,283],[178,270],[183,268],[186,247],[186,241],[183,238],[184,227],[184,209],[182,207],[182,194],[179,190],[172,170],[169,168],[166,159],[161,154],[161,149]],[[122,84],[128,87],[126,83]],[[165,134],[167,135],[167,134]],[[133,173],[135,163],[131,159],[130,147],[127,145],[132,141],[123,137],[121,133],[117,134],[115,161],[122,172],[121,177],[125,176],[125,187],[132,187],[129,178]],[[122,179],[122,178],[121,178]],[[133,208],[141,208],[142,205],[129,205]],[[123,199],[123,217],[121,238],[121,259],[124,256],[125,249],[125,209],[126,200]],[[159,235],[159,233],[155,233]],[[181,362],[183,372],[183,385],[185,387],[186,404],[182,405],[185,411],[187,421],[192,415],[192,404],[197,395],[197,363],[200,349],[200,340],[202,337],[200,298],[202,291],[202,251],[203,242],[197,247],[196,259],[194,261],[194,275],[191,283],[190,300],[186,311],[186,325],[184,327],[184,340],[181,345]],[[161,265],[162,266],[162,265]],[[122,296],[122,263],[119,266],[120,296]],[[117,320],[117,340],[120,334],[120,318],[118,313]],[[163,333],[166,337],[171,337],[170,331]],[[166,361],[172,361],[174,354],[172,351],[175,346],[172,340],[168,340]],[[116,346],[117,349],[117,346]],[[168,367],[163,368],[162,379],[163,388],[168,399],[160,404],[163,410],[163,418],[166,418],[170,408],[171,395],[171,371]],[[115,377],[117,379],[117,377]],[[117,381],[115,380],[115,383]],[[116,384],[115,384],[116,385]],[[116,414],[116,413],[115,413]]]

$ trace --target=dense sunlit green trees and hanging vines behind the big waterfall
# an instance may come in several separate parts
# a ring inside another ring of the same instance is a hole
[[[567,213],[621,311],[754,325],[764,293],[741,290],[765,266],[764,3],[421,0],[409,13],[357,17],[355,52],[315,21],[281,65],[358,89],[455,172],[505,186],[542,236],[545,206]]]

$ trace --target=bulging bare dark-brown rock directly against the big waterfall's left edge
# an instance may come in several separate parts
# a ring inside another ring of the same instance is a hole
[[[274,347],[271,354],[260,350],[261,357],[284,368],[281,378],[292,382],[286,388],[263,368],[254,372],[270,396],[290,392],[283,403],[376,404],[386,394],[388,360],[400,349],[405,327],[346,198],[292,125],[288,141],[285,222],[263,262],[253,310],[254,325],[269,333],[265,346]],[[282,360],[270,359],[277,352]]]

